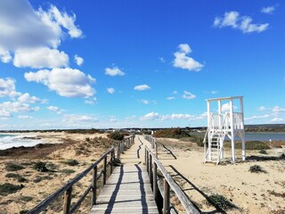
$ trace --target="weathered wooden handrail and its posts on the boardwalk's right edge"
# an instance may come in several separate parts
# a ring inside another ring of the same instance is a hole
[[[179,199],[179,201],[182,203],[183,208],[186,210],[186,213],[191,214],[198,214],[199,210],[197,210],[195,208],[195,206],[192,204],[192,202],[190,202],[190,200],[188,199],[188,196],[183,192],[183,190],[180,188],[179,185],[177,185],[175,183],[175,180],[173,179],[173,177],[170,176],[170,174],[167,172],[167,169],[165,169],[165,167],[162,165],[162,163],[155,157],[155,154],[153,152],[151,152],[151,150],[145,145],[145,153],[147,154],[147,158],[146,158],[146,164],[153,164],[155,167],[150,167],[149,169],[153,169],[153,170],[157,170],[159,169],[163,175],[163,177],[165,178],[165,183],[164,186],[166,188],[166,191],[164,191],[164,204],[163,204],[163,214],[168,214],[169,213],[169,187],[175,192],[177,198]],[[152,160],[152,161],[150,161]],[[149,171],[149,173],[151,174],[151,172]],[[156,175],[157,171],[154,171],[152,175]],[[153,177],[153,179],[151,180],[151,183],[154,182],[158,182],[158,179],[156,177]],[[154,196],[156,196],[157,192],[158,192],[158,185],[153,185],[153,194]]]

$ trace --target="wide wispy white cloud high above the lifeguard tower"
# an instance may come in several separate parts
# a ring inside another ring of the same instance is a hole
[[[216,17],[214,27],[232,29],[240,29],[243,33],[263,32],[268,29],[269,23],[253,24],[252,18],[248,16],[240,16],[239,12],[224,12],[224,17]]]

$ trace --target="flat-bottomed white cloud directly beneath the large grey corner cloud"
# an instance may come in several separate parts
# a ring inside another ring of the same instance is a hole
[[[15,51],[13,64],[19,68],[61,68],[69,66],[69,56],[62,51],[48,47],[25,48]]]

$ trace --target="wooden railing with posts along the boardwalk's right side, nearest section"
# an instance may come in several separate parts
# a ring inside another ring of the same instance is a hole
[[[175,180],[170,176],[167,172],[167,169],[161,164],[161,162],[155,157],[155,154],[151,152],[151,150],[145,146],[145,165],[147,167],[147,171],[149,173],[149,177],[151,180],[151,187],[153,190],[153,197],[156,202],[158,202],[158,193],[159,193],[159,178],[158,178],[158,169],[164,177],[164,188],[163,193],[161,193],[163,197],[163,214],[170,213],[170,189],[175,193],[181,204],[183,205],[186,213],[199,213],[199,210],[190,202],[188,196],[183,192],[179,185],[175,183]]]

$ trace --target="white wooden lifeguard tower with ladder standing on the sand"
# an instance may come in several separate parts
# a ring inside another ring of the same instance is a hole
[[[218,164],[224,159],[224,140],[232,143],[232,163],[235,162],[235,141],[242,142],[242,161],[246,160],[242,96],[208,99],[208,129],[204,137],[205,162]],[[211,112],[211,103],[217,102],[217,113]],[[222,105],[222,102],[226,102]],[[237,105],[234,105],[237,103]],[[239,108],[238,108],[239,107]]]

